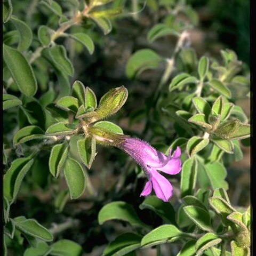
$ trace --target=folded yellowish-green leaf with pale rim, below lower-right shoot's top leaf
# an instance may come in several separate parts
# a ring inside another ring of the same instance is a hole
[[[222,222],[226,226],[229,225],[230,221],[227,217],[236,210],[222,197],[212,196],[209,198],[209,203],[214,211],[221,215]]]

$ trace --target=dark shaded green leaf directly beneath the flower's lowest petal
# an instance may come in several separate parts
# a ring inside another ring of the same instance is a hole
[[[163,202],[156,196],[148,196],[140,204],[140,209],[150,209],[167,222],[176,225],[175,211],[170,203]]]

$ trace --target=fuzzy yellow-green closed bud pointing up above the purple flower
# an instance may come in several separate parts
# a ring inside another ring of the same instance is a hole
[[[98,108],[96,109],[97,118],[103,119],[114,115],[122,108],[128,97],[128,91],[124,86],[111,89],[100,99]]]

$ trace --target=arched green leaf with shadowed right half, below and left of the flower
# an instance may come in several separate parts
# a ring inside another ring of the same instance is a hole
[[[122,201],[111,202],[101,208],[98,215],[99,224],[102,225],[109,220],[127,221],[132,226],[148,228],[148,226],[139,219],[133,207]]]

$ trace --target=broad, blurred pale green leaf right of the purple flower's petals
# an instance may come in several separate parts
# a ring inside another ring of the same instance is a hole
[[[205,171],[210,179],[211,186],[213,189],[228,189],[228,183],[225,181],[225,178],[227,177],[227,170],[221,163],[208,163],[205,165]]]

